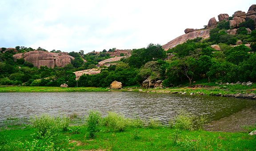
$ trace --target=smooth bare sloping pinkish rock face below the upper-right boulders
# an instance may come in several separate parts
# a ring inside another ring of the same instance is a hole
[[[184,34],[182,36],[175,38],[174,40],[168,42],[167,44],[164,44],[162,46],[162,48],[164,48],[164,50],[168,50],[168,49],[175,47],[178,44],[182,44],[182,43],[186,42],[187,40],[192,40],[197,37],[202,37],[203,39],[209,38],[209,36],[210,36],[209,32],[210,32],[210,29],[189,32],[187,34]]]

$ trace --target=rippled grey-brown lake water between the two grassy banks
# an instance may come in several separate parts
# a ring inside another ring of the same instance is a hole
[[[195,115],[208,115],[212,120],[217,120],[247,107],[256,109],[256,101],[138,92],[0,93],[0,126],[3,121],[13,117],[24,121],[43,113],[76,113],[83,117],[92,109],[100,111],[102,115],[115,111],[126,117],[139,117],[144,120],[153,118],[163,122],[172,119],[180,110],[185,110]]]

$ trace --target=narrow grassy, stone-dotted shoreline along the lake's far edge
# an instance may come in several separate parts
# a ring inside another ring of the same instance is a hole
[[[226,86],[224,86],[226,87]],[[256,85],[254,86],[256,87]],[[134,91],[144,93],[167,93],[181,95],[212,95],[223,97],[234,97],[241,99],[256,99],[256,89],[254,87],[174,87],[174,88],[141,88],[141,87],[124,87],[114,90],[104,87],[23,87],[23,86],[2,86],[1,92],[101,92],[101,91]]]

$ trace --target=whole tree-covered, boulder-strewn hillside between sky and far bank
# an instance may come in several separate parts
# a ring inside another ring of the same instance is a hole
[[[0,49],[0,85],[173,87],[200,83],[256,82],[256,5],[248,12],[211,18],[205,29],[161,46],[102,52],[48,52],[17,46]],[[116,57],[114,57],[116,56]]]

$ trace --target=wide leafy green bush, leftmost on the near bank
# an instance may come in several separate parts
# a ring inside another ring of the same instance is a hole
[[[47,114],[35,116],[31,119],[32,126],[36,128],[38,137],[57,135],[59,131],[67,131],[69,119],[67,117],[52,117]]]

